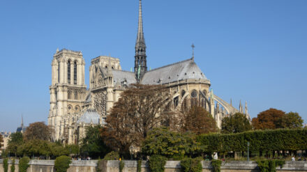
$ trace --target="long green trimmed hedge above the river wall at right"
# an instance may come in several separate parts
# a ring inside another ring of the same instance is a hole
[[[202,134],[197,141],[205,152],[227,153],[230,151],[306,150],[307,130],[257,130],[239,134]]]

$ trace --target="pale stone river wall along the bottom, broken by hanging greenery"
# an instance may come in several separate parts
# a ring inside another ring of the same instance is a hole
[[[125,166],[123,172],[137,172],[137,161],[123,161]],[[8,161],[10,164],[10,161]],[[96,172],[98,161],[72,161],[68,172]],[[27,172],[55,172],[54,160],[31,160]],[[101,172],[119,172],[119,161],[101,161],[98,166]],[[142,162],[141,172],[150,172],[148,163]],[[165,172],[180,172],[181,166],[179,161],[167,161],[165,164]],[[223,162],[220,166],[221,172],[256,172],[256,162]],[[10,171],[10,165],[9,169]],[[15,171],[18,171],[18,160],[15,162]],[[285,162],[283,169],[277,168],[277,172],[307,172],[307,162]],[[3,159],[0,159],[0,172],[3,172]],[[202,172],[211,172],[210,162],[202,162]]]

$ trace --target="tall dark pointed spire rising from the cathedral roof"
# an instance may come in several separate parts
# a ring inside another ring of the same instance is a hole
[[[147,71],[147,60],[146,60],[146,44],[143,32],[143,19],[142,19],[142,0],[140,0],[139,9],[139,24],[137,28],[137,40],[135,42],[135,75],[138,81],[142,79],[142,76]],[[140,77],[137,76],[137,70],[140,65]]]

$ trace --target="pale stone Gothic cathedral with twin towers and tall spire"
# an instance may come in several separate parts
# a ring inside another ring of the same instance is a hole
[[[194,47],[194,46],[193,46]],[[121,70],[119,58],[98,56],[91,59],[89,88],[84,84],[82,52],[57,49],[52,59],[50,113],[52,141],[79,143],[87,126],[104,125],[108,111],[130,84],[160,84],[172,94],[172,110],[181,111],[200,104],[214,117],[218,127],[223,117],[236,112],[248,114],[240,102],[239,109],[214,94],[209,79],[191,58],[148,70],[142,23],[142,1],[138,17],[133,71]],[[150,58],[150,57],[149,57]]]

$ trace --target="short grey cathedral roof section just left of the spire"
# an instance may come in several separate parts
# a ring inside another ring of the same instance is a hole
[[[127,85],[135,84],[137,80],[135,79],[134,72],[128,72],[123,70],[112,70],[114,84],[121,84],[126,81]]]

